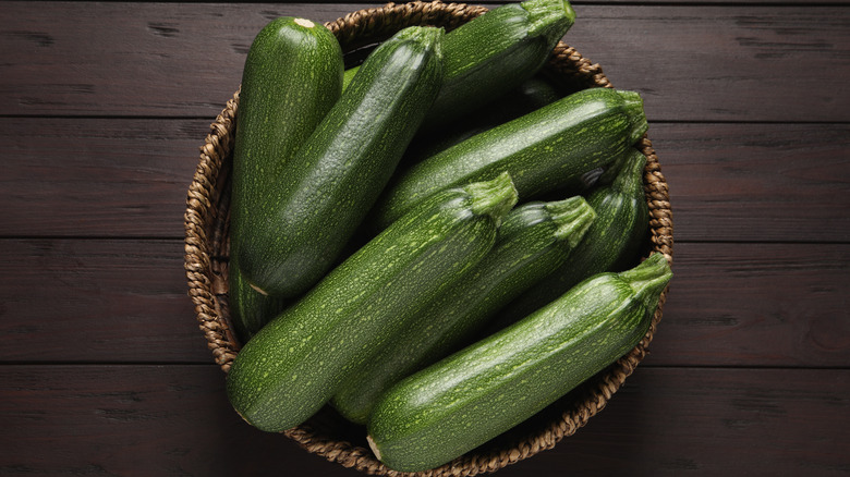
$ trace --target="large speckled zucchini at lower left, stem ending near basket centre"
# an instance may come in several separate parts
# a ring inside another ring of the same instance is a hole
[[[369,241],[240,351],[227,379],[235,411],[266,431],[307,419],[406,317],[484,257],[515,203],[500,175],[447,189]]]

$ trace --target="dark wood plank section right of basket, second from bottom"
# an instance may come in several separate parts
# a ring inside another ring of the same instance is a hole
[[[647,365],[850,363],[850,246],[677,244]]]

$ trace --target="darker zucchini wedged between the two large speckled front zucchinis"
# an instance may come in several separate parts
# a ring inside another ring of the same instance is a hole
[[[580,196],[513,209],[493,250],[352,372],[335,394],[333,407],[349,420],[366,424],[391,384],[446,356],[501,306],[562,264],[593,219],[593,209]]]

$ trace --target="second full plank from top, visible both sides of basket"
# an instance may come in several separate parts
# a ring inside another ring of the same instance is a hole
[[[0,119],[0,236],[183,236],[210,120]],[[652,123],[677,241],[850,242],[850,125]]]

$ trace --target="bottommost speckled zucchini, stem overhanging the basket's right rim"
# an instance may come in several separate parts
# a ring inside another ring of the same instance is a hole
[[[425,470],[530,418],[640,342],[671,277],[661,254],[596,274],[400,381],[369,418],[376,456],[396,470]]]

